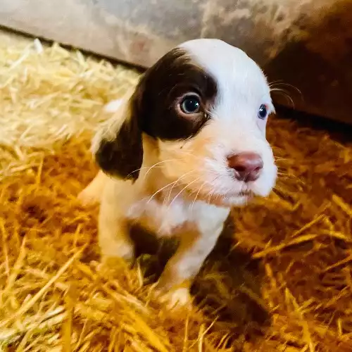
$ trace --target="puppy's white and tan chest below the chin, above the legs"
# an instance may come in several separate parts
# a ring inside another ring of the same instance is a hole
[[[191,229],[202,233],[211,232],[222,225],[229,214],[229,208],[194,201],[194,198],[185,196],[182,187],[181,191],[175,187],[172,191],[163,192],[158,191],[165,187],[163,183],[151,187],[148,181],[144,177],[140,177],[135,184],[110,180],[106,198],[123,217],[158,237],[178,237]]]

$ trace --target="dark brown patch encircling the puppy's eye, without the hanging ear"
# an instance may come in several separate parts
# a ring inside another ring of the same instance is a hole
[[[201,101],[196,118],[186,118],[177,111],[177,103],[189,93]],[[207,108],[215,101],[216,93],[214,78],[192,63],[186,51],[173,49],[142,77],[132,96],[132,111],[137,112],[141,130],[151,137],[187,139],[208,120]]]

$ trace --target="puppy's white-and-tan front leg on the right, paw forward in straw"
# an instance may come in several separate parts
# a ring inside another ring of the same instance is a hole
[[[182,234],[180,246],[165,266],[157,285],[158,296],[168,301],[169,308],[190,305],[189,289],[193,279],[213,250],[222,227],[221,223],[213,230],[191,230]]]

